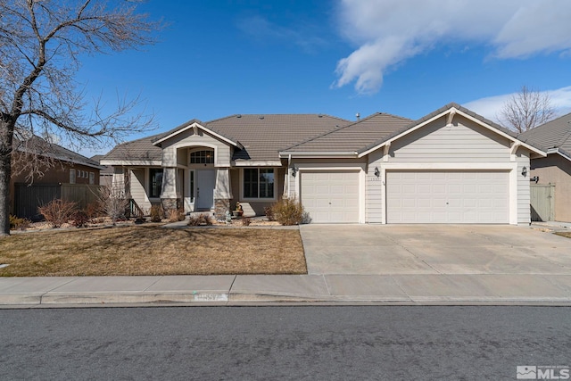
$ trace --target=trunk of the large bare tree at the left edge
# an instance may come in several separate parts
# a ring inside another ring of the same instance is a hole
[[[0,120],[0,236],[10,235],[13,127],[10,121]]]

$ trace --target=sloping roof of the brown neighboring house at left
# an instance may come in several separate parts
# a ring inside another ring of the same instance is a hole
[[[30,151],[30,153],[35,153],[39,156],[51,157],[61,162],[71,162],[96,169],[103,169],[103,166],[99,165],[99,162],[95,162],[79,153],[70,151],[69,149],[62,147],[62,145],[50,143],[41,137],[33,136],[28,139],[19,139],[14,137],[13,145],[16,150],[21,152]]]

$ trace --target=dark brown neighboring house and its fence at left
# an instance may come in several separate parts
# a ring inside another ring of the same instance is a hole
[[[21,218],[41,219],[37,207],[56,198],[62,198],[85,208],[96,198],[99,188],[99,171],[103,169],[79,153],[61,145],[49,143],[41,137],[15,141],[16,151],[10,179],[10,213]],[[33,147],[33,150],[32,148]],[[31,153],[29,152],[31,150]],[[29,178],[29,169],[23,169],[30,154],[50,158],[54,164],[40,166],[42,175]]]

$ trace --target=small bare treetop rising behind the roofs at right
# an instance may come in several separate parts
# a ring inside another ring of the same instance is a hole
[[[503,105],[500,119],[518,133],[537,127],[555,116],[550,95],[526,86]]]

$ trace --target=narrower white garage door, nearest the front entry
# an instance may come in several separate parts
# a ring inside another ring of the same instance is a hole
[[[359,222],[359,171],[300,173],[300,197],[311,222]]]

